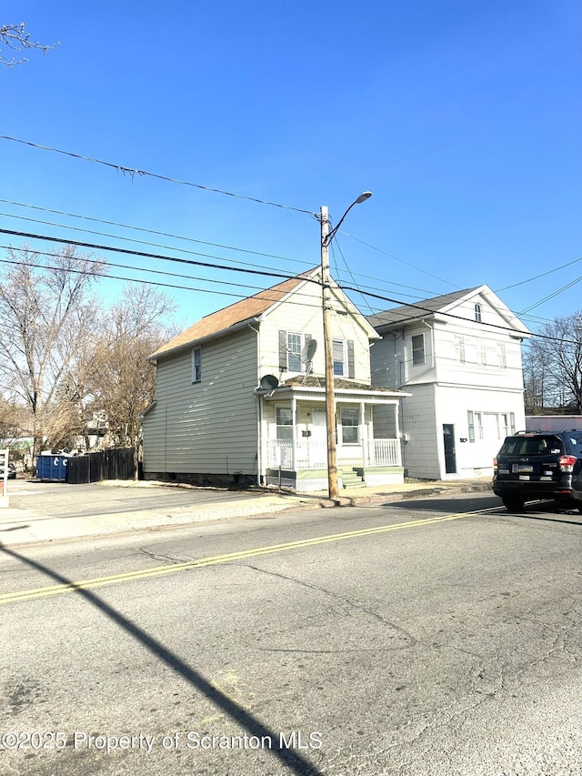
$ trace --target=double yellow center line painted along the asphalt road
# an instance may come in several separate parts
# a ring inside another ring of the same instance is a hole
[[[496,511],[498,507],[487,509],[476,509],[471,512],[457,512],[452,515],[445,515],[441,518],[426,518],[420,520],[410,520],[406,523],[395,523],[389,526],[379,526],[372,529],[359,529],[346,531],[344,533],[334,533],[327,536],[318,536],[314,539],[300,539],[298,541],[288,541],[285,544],[270,544],[266,547],[257,547],[254,549],[241,549],[238,552],[227,552],[224,555],[214,555],[209,558],[198,560],[188,560],[185,563],[172,563],[167,566],[156,566],[150,569],[139,569],[136,571],[125,571],[123,574],[111,574],[107,577],[95,577],[95,579],[82,579],[68,584],[49,585],[44,588],[33,588],[31,590],[18,590],[13,593],[3,593],[0,595],[0,605],[5,603],[15,603],[17,601],[33,600],[46,598],[48,596],[60,595],[61,593],[74,592],[75,590],[87,590],[89,588],[103,588],[106,585],[115,585],[118,582],[130,582],[136,579],[148,579],[149,577],[161,577],[163,574],[176,574],[178,571],[187,569],[203,569],[206,566],[217,566],[221,563],[230,563],[234,560],[243,560],[247,558],[256,558],[261,555],[272,555],[276,552],[286,552],[289,549],[301,549],[304,547],[315,547],[318,544],[326,544],[331,541],[343,541],[345,539],[356,539],[358,537],[373,536],[374,534],[387,533],[391,530],[401,530],[417,528],[418,526],[434,525],[450,520],[459,520],[470,518],[475,515],[485,514]]]

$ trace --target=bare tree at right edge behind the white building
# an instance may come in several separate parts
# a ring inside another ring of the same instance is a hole
[[[558,317],[533,338],[524,359],[528,408],[582,411],[582,312]]]

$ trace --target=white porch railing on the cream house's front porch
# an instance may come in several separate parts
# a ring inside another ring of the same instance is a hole
[[[336,448],[337,466],[402,466],[400,442],[398,439],[369,439],[366,446],[346,446],[338,444]],[[270,469],[326,469],[327,445],[325,441],[309,438],[271,439],[267,450],[267,467]]]

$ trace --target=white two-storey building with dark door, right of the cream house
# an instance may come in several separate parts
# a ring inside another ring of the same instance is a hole
[[[372,383],[411,394],[401,414],[406,476],[492,473],[502,440],[526,428],[521,342],[528,329],[487,286],[367,319],[382,335],[371,349]]]

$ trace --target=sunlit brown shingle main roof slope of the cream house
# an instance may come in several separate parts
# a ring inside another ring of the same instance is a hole
[[[158,358],[173,350],[186,348],[200,339],[215,337],[223,332],[226,333],[229,329],[256,320],[257,317],[266,313],[271,307],[275,307],[287,294],[295,291],[306,280],[312,279],[318,271],[319,267],[309,269],[301,275],[297,275],[297,277],[290,277],[276,286],[259,291],[253,297],[241,299],[240,302],[236,302],[234,305],[224,307],[222,310],[217,310],[216,313],[210,313],[210,315],[200,318],[194,326],[186,328],[177,337],[166,342],[161,348],[157,348],[156,352],[152,353],[149,358]]]

